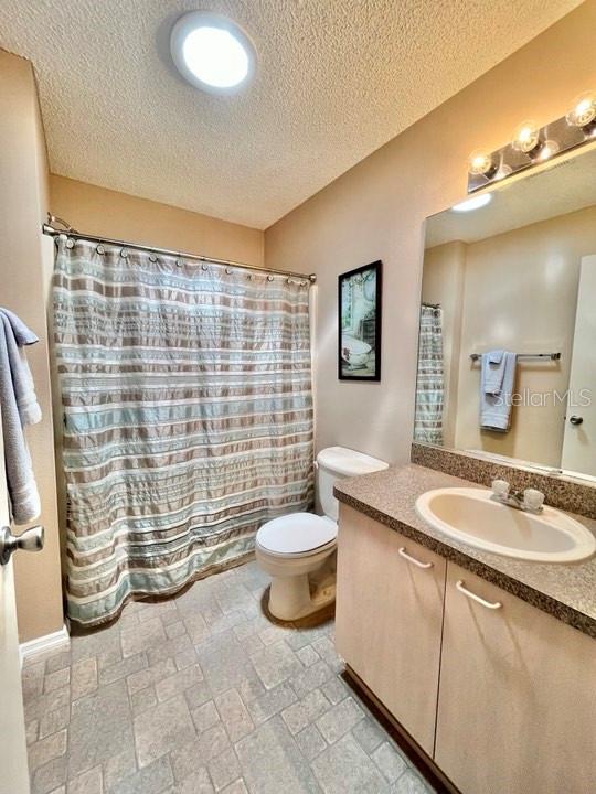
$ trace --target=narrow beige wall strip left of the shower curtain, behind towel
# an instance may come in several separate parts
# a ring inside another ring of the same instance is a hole
[[[28,61],[0,51],[1,304],[39,335],[28,351],[43,414],[26,434],[40,491],[45,548],[14,557],[21,641],[63,625],[60,537],[53,454],[52,405],[44,294],[44,257],[51,253],[41,224],[47,207],[45,144],[33,72]]]

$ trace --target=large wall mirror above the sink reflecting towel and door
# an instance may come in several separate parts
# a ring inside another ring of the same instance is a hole
[[[596,150],[490,196],[426,223],[414,440],[596,478]]]

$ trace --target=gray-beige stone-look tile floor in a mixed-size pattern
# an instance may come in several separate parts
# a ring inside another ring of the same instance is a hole
[[[427,794],[340,677],[333,623],[273,625],[254,562],[23,669],[32,794]]]

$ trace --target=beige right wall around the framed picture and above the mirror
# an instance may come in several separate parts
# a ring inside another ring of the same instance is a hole
[[[596,83],[594,30],[588,0],[266,230],[267,265],[319,277],[319,448],[408,459],[424,219],[464,196],[470,151],[502,146],[524,118],[563,115]],[[339,382],[337,277],[375,259],[384,262],[382,382]]]

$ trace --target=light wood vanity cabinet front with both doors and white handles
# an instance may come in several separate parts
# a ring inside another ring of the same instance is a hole
[[[596,640],[345,504],[336,637],[462,794],[596,791]]]

